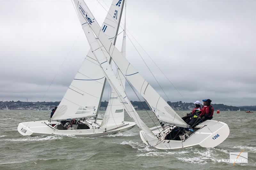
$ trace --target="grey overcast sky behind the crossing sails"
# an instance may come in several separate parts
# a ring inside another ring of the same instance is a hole
[[[85,1],[101,25],[100,4],[108,10],[112,1],[99,2]],[[60,69],[42,100],[60,101],[89,50],[72,2],[0,0],[0,10],[0,99],[41,101]],[[172,102],[256,105],[256,1],[128,0],[126,22],[185,98],[132,39]],[[167,100],[129,39],[126,56]]]

